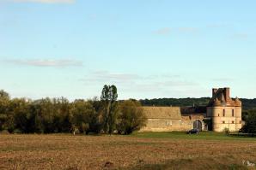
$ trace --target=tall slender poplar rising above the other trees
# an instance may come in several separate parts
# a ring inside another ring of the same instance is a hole
[[[115,85],[104,85],[101,92],[103,107],[104,131],[113,134],[115,130],[118,111],[118,90]]]

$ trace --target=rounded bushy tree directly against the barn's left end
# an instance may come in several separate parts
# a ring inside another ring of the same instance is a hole
[[[119,104],[118,132],[131,134],[140,130],[146,123],[141,104],[135,100],[127,100]]]

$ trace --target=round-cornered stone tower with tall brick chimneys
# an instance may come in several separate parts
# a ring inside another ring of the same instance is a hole
[[[212,89],[207,117],[211,118],[214,132],[222,132],[225,128],[230,132],[241,129],[241,101],[237,97],[233,100],[229,95],[229,88]]]

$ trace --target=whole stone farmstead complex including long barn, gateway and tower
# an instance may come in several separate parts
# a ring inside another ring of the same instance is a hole
[[[229,88],[213,89],[208,106],[143,107],[148,121],[141,132],[200,131],[235,132],[241,129],[241,101],[229,97]]]

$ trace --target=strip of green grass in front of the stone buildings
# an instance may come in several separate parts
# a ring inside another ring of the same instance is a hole
[[[186,132],[135,132],[131,137],[136,138],[172,138],[172,139],[199,139],[199,140],[235,140],[256,141],[256,138],[227,136],[223,132],[200,132],[199,134],[186,134]]]

